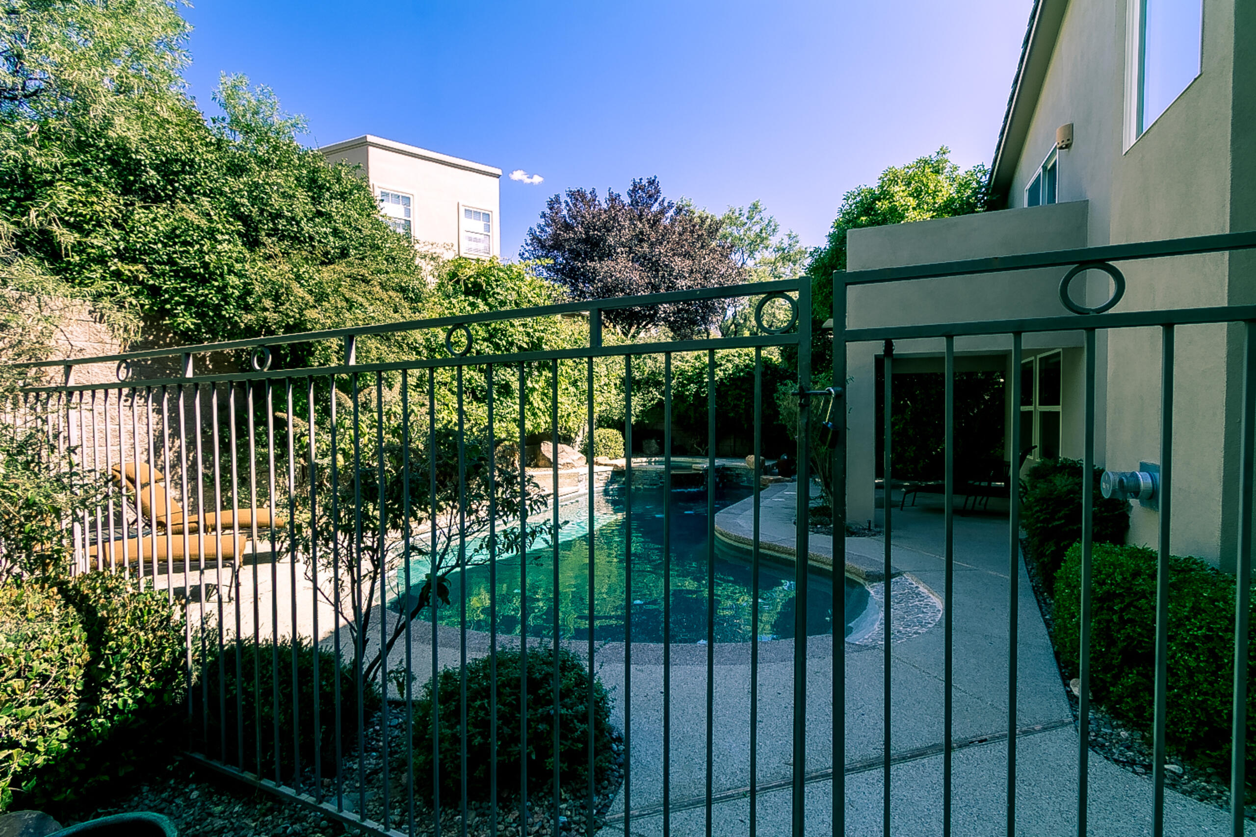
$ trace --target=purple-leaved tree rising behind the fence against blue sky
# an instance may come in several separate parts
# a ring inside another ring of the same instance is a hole
[[[720,240],[720,222],[663,197],[657,177],[634,179],[627,197],[568,189],[546,205],[528,231],[521,255],[578,300],[661,294],[732,285],[745,270]],[[613,325],[666,326],[679,335],[711,329],[722,300],[607,311]]]

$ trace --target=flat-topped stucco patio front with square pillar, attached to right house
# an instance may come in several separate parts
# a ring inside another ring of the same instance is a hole
[[[1086,243],[1085,201],[1032,210],[983,212],[888,227],[852,230],[847,237],[849,270],[896,267],[985,256],[1040,252]],[[855,286],[848,292],[848,328],[970,323],[1005,317],[1055,316],[1065,312],[1056,289],[1060,271],[1019,271],[985,276]],[[1030,350],[1079,345],[1076,333],[1026,335]],[[896,356],[937,355],[942,340],[901,340]],[[1011,336],[957,338],[956,351],[1007,354]],[[850,520],[875,517],[875,364],[879,343],[847,348],[849,445],[847,509]]]

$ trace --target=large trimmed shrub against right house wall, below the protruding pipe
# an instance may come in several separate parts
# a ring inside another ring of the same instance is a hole
[[[1157,553],[1096,543],[1091,551],[1090,694],[1114,717],[1149,730],[1156,684]],[[1055,585],[1056,653],[1076,676],[1081,547],[1069,550]],[[1256,597],[1253,597],[1256,601]],[[1183,757],[1225,772],[1230,764],[1235,660],[1235,578],[1192,557],[1169,558],[1166,740]],[[1256,622],[1248,637],[1247,713],[1256,717]],[[1256,725],[1247,725],[1248,777]]]

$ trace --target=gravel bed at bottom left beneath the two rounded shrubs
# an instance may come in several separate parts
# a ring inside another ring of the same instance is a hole
[[[404,752],[404,719],[401,710],[389,713],[388,742],[393,758]],[[622,745],[617,740],[617,753]],[[383,811],[383,725],[376,717],[365,733],[365,758],[362,773],[365,777],[365,817],[382,822]],[[357,753],[344,760],[343,768],[343,806],[353,816],[362,798],[362,786],[358,784]],[[308,772],[304,791],[314,784],[313,772]],[[406,814],[409,794],[404,765],[391,769],[388,777],[389,812],[392,827],[408,831]],[[607,812],[623,784],[622,755],[610,774],[598,788],[594,799],[594,829],[605,824]],[[324,798],[335,804],[335,778],[323,779]],[[181,837],[334,837],[355,833],[352,826],[345,826],[325,811],[313,809],[296,802],[288,802],[265,791],[252,789],[241,782],[221,776],[215,770],[198,768],[193,762],[183,759],[171,765],[162,776],[151,776],[132,783],[131,788],[107,803],[90,809],[77,811],[73,814],[58,812],[63,824],[73,824],[95,817],[128,811],[152,811],[175,821]],[[585,799],[564,798],[559,808],[558,837],[585,834]],[[461,806],[441,806],[440,831],[442,834],[458,834],[462,831]],[[436,833],[433,811],[428,802],[416,794],[414,834]],[[526,824],[525,824],[526,823]],[[467,834],[471,837],[544,837],[554,834],[553,797],[529,798],[526,819],[519,801],[507,799],[497,809],[497,829],[494,833],[492,811],[489,803],[467,806]]]

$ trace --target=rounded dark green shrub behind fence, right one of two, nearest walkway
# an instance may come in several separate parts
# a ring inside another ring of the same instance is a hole
[[[517,793],[520,773],[519,651],[497,653],[497,791],[502,797]],[[583,793],[589,781],[589,670],[583,659],[561,650],[559,665],[559,782],[564,789]],[[492,762],[489,699],[492,680],[490,658],[467,664],[467,791],[470,801],[487,799],[489,765]],[[457,801],[461,783],[461,678],[457,669],[445,669],[438,678],[440,694],[440,787],[441,799]],[[614,763],[612,752],[610,699],[605,686],[593,680],[594,777],[602,782]],[[528,789],[548,792],[554,777],[554,651],[528,654]],[[432,793],[432,683],[423,685],[414,701],[414,782],[425,797]]]

